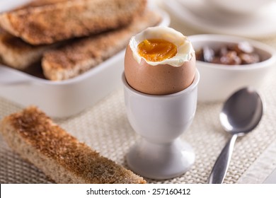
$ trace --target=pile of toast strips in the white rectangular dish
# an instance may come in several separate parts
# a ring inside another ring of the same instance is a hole
[[[45,78],[74,78],[123,50],[130,37],[161,16],[146,0],[34,0],[0,14],[0,59]]]

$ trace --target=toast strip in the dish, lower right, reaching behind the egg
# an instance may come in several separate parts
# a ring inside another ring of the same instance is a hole
[[[42,69],[46,78],[62,81],[78,76],[123,50],[132,35],[160,23],[161,16],[146,11],[127,27],[86,37],[70,45],[45,52]]]

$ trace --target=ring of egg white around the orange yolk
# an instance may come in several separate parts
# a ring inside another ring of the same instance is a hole
[[[138,53],[138,45],[145,39],[163,39],[167,40],[177,47],[177,53],[174,57],[169,59],[164,59],[161,62],[150,62],[141,57]],[[169,64],[171,66],[182,66],[184,62],[189,62],[192,56],[195,55],[195,50],[192,47],[188,37],[184,36],[182,33],[174,30],[173,28],[156,26],[152,28],[146,28],[146,30],[141,33],[131,37],[130,48],[132,50],[132,55],[134,59],[140,64],[141,60],[144,59],[147,64],[156,66],[159,64]]]

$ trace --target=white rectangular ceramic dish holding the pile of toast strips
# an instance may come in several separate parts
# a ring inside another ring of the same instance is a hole
[[[167,13],[154,9],[168,26]],[[121,85],[125,50],[80,76],[48,81],[0,64],[0,97],[22,105],[36,105],[51,117],[69,117],[94,105]]]

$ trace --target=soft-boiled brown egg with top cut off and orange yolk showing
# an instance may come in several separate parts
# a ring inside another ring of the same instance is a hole
[[[147,28],[130,39],[125,77],[132,88],[146,94],[183,91],[195,78],[195,50],[188,37],[173,28]]]

